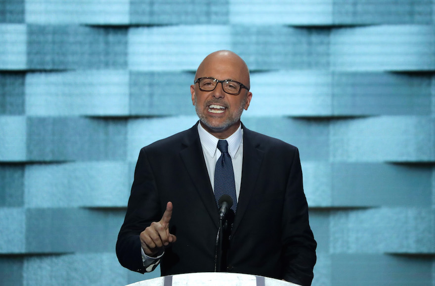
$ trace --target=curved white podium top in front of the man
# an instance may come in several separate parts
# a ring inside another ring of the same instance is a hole
[[[127,286],[298,286],[278,279],[227,272],[197,272],[158,277]]]

